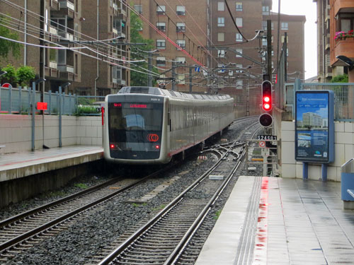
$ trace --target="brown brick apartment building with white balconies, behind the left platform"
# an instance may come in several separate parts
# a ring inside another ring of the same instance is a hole
[[[86,41],[107,40],[118,36],[125,37],[120,41],[129,42],[126,6],[118,0],[101,1],[98,8],[97,1],[86,0],[83,3],[82,0],[0,1],[0,10],[2,16],[11,16],[11,24],[16,25],[11,31],[19,30],[18,39],[34,45],[57,47],[55,44],[59,43],[64,47],[88,45],[96,49],[98,42],[89,45]],[[43,23],[40,23],[40,18],[43,18]],[[44,29],[43,38],[46,40],[43,42],[40,42],[41,28]],[[106,95],[129,83],[129,71],[121,69],[115,58],[129,59],[130,55],[126,45],[109,48],[105,43],[100,45],[100,52],[108,54],[105,58],[98,57],[88,49],[40,49],[23,45],[20,59],[9,56],[8,61],[2,61],[0,66],[10,63],[16,67],[34,67],[36,78],[46,79],[42,83],[46,91],[55,92],[59,86],[69,82],[66,93]],[[84,54],[94,58],[90,59]],[[110,65],[107,61],[116,65]]]

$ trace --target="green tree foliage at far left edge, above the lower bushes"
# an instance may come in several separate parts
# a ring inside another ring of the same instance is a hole
[[[11,30],[4,26],[8,24],[9,21],[10,19],[0,16],[0,36],[7,37],[11,40],[18,40],[18,34],[12,33]],[[19,58],[21,54],[21,44],[11,42],[10,40],[0,39],[0,57],[6,59],[11,50],[13,57]]]

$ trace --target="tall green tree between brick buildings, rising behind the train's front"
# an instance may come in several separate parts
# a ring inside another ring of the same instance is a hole
[[[132,46],[132,52],[135,52],[135,58],[136,59],[146,59],[147,56],[152,56],[152,54],[147,53],[148,51],[151,51],[152,49],[155,49],[154,47],[154,40],[149,40],[149,39],[144,39],[142,35],[140,35],[139,31],[142,28],[142,20],[137,16],[135,13],[130,14],[130,40],[131,42],[139,42],[139,43],[147,43],[145,46]],[[145,51],[145,52],[142,52]],[[132,66],[132,69],[135,69],[137,71],[144,71],[143,69],[149,69],[149,66],[146,61],[140,62],[140,63],[135,63],[136,66]],[[140,67],[142,68],[140,68]],[[157,69],[153,69],[154,73],[158,73]],[[152,85],[156,81],[153,80]],[[146,73],[138,73],[136,71],[131,71],[130,72],[130,86],[147,86],[147,74]]]

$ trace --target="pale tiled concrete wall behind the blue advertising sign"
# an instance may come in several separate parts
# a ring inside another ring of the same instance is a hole
[[[354,154],[353,123],[334,123],[334,162],[329,164],[327,179],[341,182],[341,165]],[[295,122],[282,122],[281,177],[302,178],[302,162],[295,161]],[[309,179],[321,178],[321,164],[309,164]]]

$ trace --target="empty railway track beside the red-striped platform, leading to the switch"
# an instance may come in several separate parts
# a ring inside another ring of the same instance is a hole
[[[240,146],[238,141],[213,146],[211,150],[223,151],[217,163],[98,264],[193,264],[193,258],[185,253],[193,252],[198,257],[199,252],[190,248],[188,252],[183,251],[234,177],[245,154],[244,146]],[[239,150],[236,152],[234,148]],[[226,175],[222,184],[212,180],[221,174]],[[199,192],[204,192],[205,198],[195,199],[193,194]],[[97,261],[98,257],[89,264],[97,264]]]

